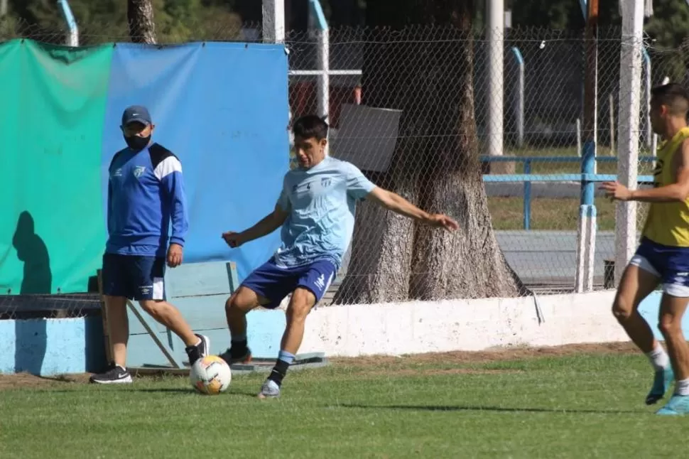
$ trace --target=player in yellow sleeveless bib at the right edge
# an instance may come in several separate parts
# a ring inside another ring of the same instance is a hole
[[[655,370],[646,404],[665,396],[675,379],[675,392],[662,415],[689,414],[689,347],[682,333],[682,317],[689,303],[689,93],[670,84],[651,91],[651,126],[662,136],[653,188],[629,190],[617,182],[601,185],[617,200],[650,202],[636,254],[626,266],[612,313],[627,335],[651,361]],[[653,338],[639,314],[639,303],[663,287],[658,328],[668,352]]]

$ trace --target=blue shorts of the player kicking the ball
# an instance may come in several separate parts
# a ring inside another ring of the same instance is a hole
[[[298,287],[311,291],[318,303],[336,275],[337,268],[328,260],[317,260],[296,268],[281,268],[270,259],[249,274],[242,286],[266,298],[270,303],[264,307],[273,309],[280,306],[283,299]]]

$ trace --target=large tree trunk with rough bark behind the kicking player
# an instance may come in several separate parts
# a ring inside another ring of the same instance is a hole
[[[460,222],[449,234],[364,202],[337,303],[526,293],[492,230],[474,121],[473,1],[369,0],[364,104],[403,110],[384,188]],[[409,26],[411,23],[428,24]],[[372,43],[371,43],[372,42]]]

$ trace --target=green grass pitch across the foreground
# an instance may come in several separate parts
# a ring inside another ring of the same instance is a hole
[[[4,377],[0,458],[679,457],[689,419],[644,405],[650,373],[617,345],[335,362],[269,401],[264,374],[215,397]]]

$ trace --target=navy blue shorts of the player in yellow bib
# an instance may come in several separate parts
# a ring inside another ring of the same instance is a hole
[[[689,298],[689,247],[669,247],[644,237],[629,264],[661,279],[668,295]]]

